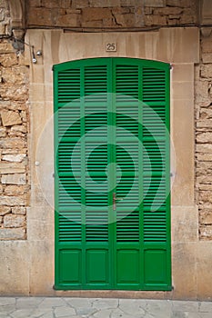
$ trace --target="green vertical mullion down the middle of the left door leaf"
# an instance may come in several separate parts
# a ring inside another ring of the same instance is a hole
[[[85,103],[85,66],[80,74],[80,154],[81,154],[81,229],[82,229],[82,286],[86,286],[86,103]]]

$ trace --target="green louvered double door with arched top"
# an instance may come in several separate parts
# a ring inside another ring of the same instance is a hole
[[[54,66],[56,289],[170,290],[169,65]]]

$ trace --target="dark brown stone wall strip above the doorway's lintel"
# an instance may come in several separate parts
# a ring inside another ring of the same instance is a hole
[[[28,26],[137,28],[197,23],[196,0],[28,0]]]

